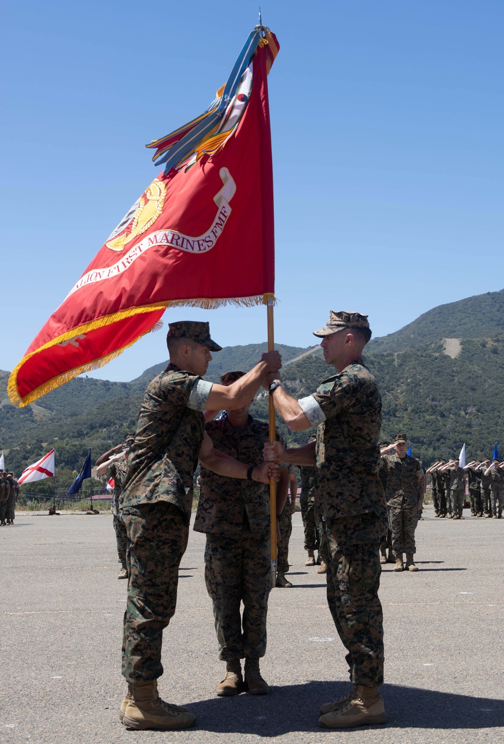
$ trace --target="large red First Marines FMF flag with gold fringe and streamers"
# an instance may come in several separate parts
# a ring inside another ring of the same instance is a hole
[[[106,364],[156,327],[166,307],[274,298],[267,72],[278,42],[255,31],[247,44],[252,60],[237,60],[243,64],[233,70],[234,98],[224,101],[220,123],[201,130],[205,137],[190,158],[179,139],[182,162],[147,187],[14,368],[8,393],[16,405]],[[181,131],[191,139],[190,130]],[[173,138],[161,142],[155,158]]]

